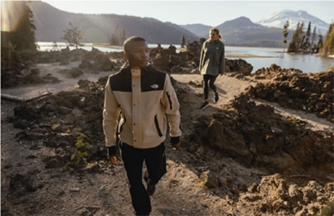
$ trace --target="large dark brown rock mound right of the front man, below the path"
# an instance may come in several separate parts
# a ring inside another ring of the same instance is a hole
[[[304,122],[274,113],[271,106],[256,105],[249,96],[239,96],[229,109],[199,116],[197,121],[192,141],[245,166],[283,174],[304,174],[307,168],[322,172],[323,178],[331,172],[333,134],[313,132]]]

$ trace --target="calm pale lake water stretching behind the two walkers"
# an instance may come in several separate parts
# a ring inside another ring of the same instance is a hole
[[[38,42],[40,51],[50,51],[53,49],[52,42]],[[59,49],[66,47],[65,43],[57,42]],[[85,44],[80,46],[81,49],[91,51],[93,44]],[[157,47],[157,44],[148,44],[149,47]],[[168,47],[169,44],[161,44],[162,47]],[[179,45],[174,45],[179,48]],[[102,46],[94,46],[94,48],[103,52],[123,51],[122,49],[112,49]],[[75,49],[71,46],[70,49]],[[262,47],[242,47],[242,46],[226,46],[225,57],[229,59],[243,58],[245,61],[253,65],[252,72],[260,68],[269,68],[275,63],[281,68],[296,68],[303,72],[325,71],[328,65],[334,65],[334,58],[322,56],[302,55],[293,53],[283,53],[283,48],[262,48]],[[248,57],[250,56],[250,57]]]

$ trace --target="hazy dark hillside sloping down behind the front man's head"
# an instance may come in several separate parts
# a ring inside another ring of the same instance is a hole
[[[199,38],[179,26],[162,23],[153,18],[139,18],[129,15],[101,14],[88,15],[68,13],[53,8],[41,1],[32,1],[36,37],[39,42],[60,42],[69,23],[79,27],[84,34],[83,42],[108,43],[113,33],[125,33],[126,37],[140,35],[150,44],[179,44],[184,33],[186,41]],[[116,31],[118,30],[118,31]]]

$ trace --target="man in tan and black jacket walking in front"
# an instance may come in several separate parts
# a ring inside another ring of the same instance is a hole
[[[167,124],[172,148],[180,147],[179,101],[169,75],[148,63],[149,49],[145,39],[134,36],[125,40],[124,58],[128,65],[110,75],[105,85],[105,146],[110,161],[117,164],[115,141],[119,130],[122,160],[135,214],[149,215],[149,195],[154,193],[155,184],[166,172],[163,142]],[[143,185],[144,162],[147,188]]]

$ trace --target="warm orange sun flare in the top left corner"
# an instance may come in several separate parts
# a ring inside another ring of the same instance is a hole
[[[1,32],[15,31],[22,13],[20,1],[1,1]]]

